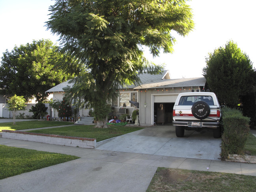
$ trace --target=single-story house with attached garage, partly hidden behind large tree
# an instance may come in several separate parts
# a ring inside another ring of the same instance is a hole
[[[134,106],[129,101],[139,103],[140,125],[155,125],[172,122],[172,109],[179,93],[189,92],[192,89],[204,89],[206,79],[181,78],[171,79],[170,72],[164,70],[159,75],[140,75],[140,86],[127,86],[119,90],[119,97],[112,100],[114,116],[131,115]],[[73,86],[69,81],[63,82],[46,92],[53,93],[54,100],[62,100],[65,92],[63,88]],[[87,116],[89,109],[80,110],[80,116]]]

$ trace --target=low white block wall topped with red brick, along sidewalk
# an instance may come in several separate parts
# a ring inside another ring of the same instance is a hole
[[[97,147],[97,142],[95,138],[32,133],[17,130],[2,130],[2,138],[41,142],[55,145],[65,145],[71,147],[82,147],[88,149],[95,149]]]

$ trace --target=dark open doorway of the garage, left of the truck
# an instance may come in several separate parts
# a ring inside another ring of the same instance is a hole
[[[154,124],[172,123],[173,106],[174,103],[154,103]]]

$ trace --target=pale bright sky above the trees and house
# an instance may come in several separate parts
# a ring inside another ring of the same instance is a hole
[[[50,39],[58,44],[58,37],[47,31],[51,0],[0,0],[0,58],[6,49],[25,45],[33,40]],[[165,64],[171,78],[203,76],[209,53],[224,47],[230,40],[246,53],[256,66],[255,0],[192,0],[195,27],[187,36],[175,32],[172,54],[161,53],[153,58],[148,50],[144,54],[156,64]]]

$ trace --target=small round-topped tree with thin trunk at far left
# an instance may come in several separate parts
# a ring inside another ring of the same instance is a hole
[[[26,110],[26,99],[23,96],[17,96],[16,94],[11,97],[7,103],[7,110],[13,114],[13,125],[15,125],[15,116],[17,111]]]

